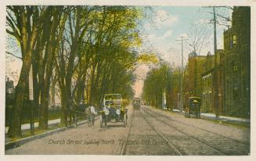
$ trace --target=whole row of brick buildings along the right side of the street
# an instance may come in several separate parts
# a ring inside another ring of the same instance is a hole
[[[250,117],[250,13],[250,7],[234,7],[232,27],[224,31],[224,49],[216,53],[217,66],[211,53],[207,56],[189,54],[185,75],[189,85],[183,95],[202,98],[202,113],[217,113],[218,110],[225,116]],[[213,77],[215,70],[218,80]],[[218,90],[213,86],[214,80]],[[218,91],[218,98],[214,99],[215,91]],[[217,108],[214,102],[217,102]]]

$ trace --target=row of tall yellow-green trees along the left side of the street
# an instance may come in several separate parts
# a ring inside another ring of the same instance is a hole
[[[16,85],[9,136],[21,134],[20,120],[29,71],[39,127],[48,128],[50,84],[59,86],[63,122],[73,103],[99,105],[104,93],[132,96],[132,71],[141,44],[142,9],[131,6],[7,6],[6,32],[16,38],[23,61]],[[85,97],[85,98],[84,98]]]

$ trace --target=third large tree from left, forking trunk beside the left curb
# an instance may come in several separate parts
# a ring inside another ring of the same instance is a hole
[[[59,41],[61,45],[55,57],[56,73],[58,74],[58,84],[63,108],[63,122],[66,126],[68,117],[70,118],[69,123],[71,123],[71,112],[74,110],[72,77],[74,77],[75,67],[81,61],[80,52],[83,53],[81,49],[85,34],[89,25],[92,24],[92,20],[88,20],[88,17],[90,17],[89,14],[91,13],[90,8],[89,6],[69,7],[65,34],[63,39]],[[83,20],[83,18],[85,19]]]

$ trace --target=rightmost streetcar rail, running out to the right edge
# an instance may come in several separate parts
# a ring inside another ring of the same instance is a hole
[[[143,110],[144,111],[150,111],[151,113],[154,113],[151,109],[146,109],[146,108],[143,108]],[[188,124],[188,123],[183,123],[182,121],[178,121],[178,120],[173,120],[173,119],[171,119],[170,117],[168,117],[168,116],[165,116],[165,115],[163,115],[163,114],[160,114],[160,113],[154,113],[154,114],[156,114],[156,115],[158,115],[158,116],[163,116],[164,118],[166,118],[166,119],[168,119],[168,120],[172,120],[172,121],[175,121],[175,122],[178,122],[178,123],[182,123],[182,124],[185,124],[186,126],[189,126],[189,127],[195,127],[195,128],[197,128],[197,129],[200,129],[201,131],[206,131],[206,132],[208,132],[208,133],[211,133],[211,134],[216,134],[216,135],[218,135],[218,136],[220,136],[220,137],[223,137],[223,138],[227,138],[227,139],[230,139],[230,140],[233,140],[233,141],[236,141],[237,143],[240,143],[240,144],[243,144],[243,145],[250,145],[250,142],[246,142],[246,141],[239,141],[239,140],[237,140],[237,139],[234,139],[234,138],[229,138],[229,137],[226,137],[225,135],[222,135],[222,134],[218,134],[218,133],[216,133],[216,132],[214,132],[214,131],[207,131],[207,130],[205,130],[205,129],[203,129],[203,128],[200,128],[200,127],[196,127],[196,126],[194,126],[194,125],[190,125],[190,124]]]

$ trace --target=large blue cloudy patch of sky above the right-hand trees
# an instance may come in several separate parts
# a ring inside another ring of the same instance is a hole
[[[228,17],[231,10],[218,9],[217,12]],[[178,55],[181,57],[181,43],[175,40],[180,39],[180,36],[188,38],[189,30],[195,26],[194,24],[200,26],[199,28],[207,27],[210,34],[209,41],[213,43],[213,23],[210,23],[213,19],[212,8],[164,6],[153,7],[153,13],[151,17],[156,27],[152,27],[152,20],[145,20],[142,28],[148,35],[142,48],[153,46],[164,55],[164,59],[174,59]],[[218,48],[223,48],[223,30],[226,28],[225,26],[217,26]],[[213,46],[213,44],[206,46],[200,55],[207,55],[207,52],[213,53]],[[168,51],[169,48],[174,48],[176,52]],[[185,58],[189,52],[188,46],[184,43]]]

